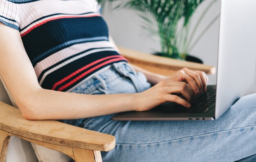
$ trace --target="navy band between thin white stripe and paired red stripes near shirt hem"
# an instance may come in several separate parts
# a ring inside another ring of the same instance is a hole
[[[41,84],[41,87],[45,88],[45,89],[52,89],[53,85],[56,82],[67,77],[67,75],[72,74],[76,70],[83,68],[84,66],[92,63],[93,61],[102,59],[104,57],[115,56],[115,55],[119,55],[119,54],[116,51],[100,51],[97,53],[92,53],[90,55],[86,55],[86,56],[84,56],[80,59],[77,59],[75,61],[72,61],[69,64],[59,68],[58,70],[55,70],[54,72],[48,74],[45,77],[43,83]],[[94,68],[95,66],[97,66],[97,65],[94,65],[90,68]]]

